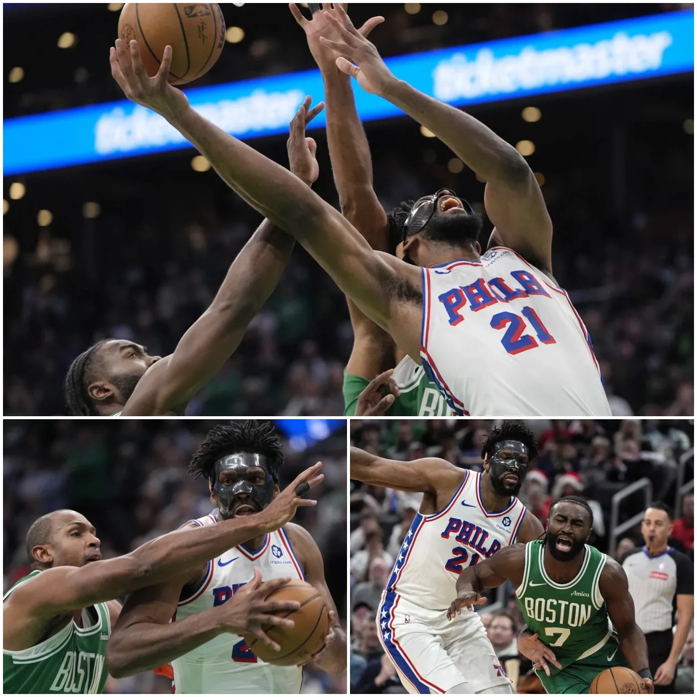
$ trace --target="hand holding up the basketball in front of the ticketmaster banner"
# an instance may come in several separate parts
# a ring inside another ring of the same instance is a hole
[[[148,77],[140,58],[137,41],[131,41],[130,45],[126,45],[123,39],[116,39],[116,47],[109,49],[112,77],[118,82],[126,97],[167,119],[177,116],[189,106],[186,95],[167,82],[171,62],[172,47],[165,46],[158,74]]]

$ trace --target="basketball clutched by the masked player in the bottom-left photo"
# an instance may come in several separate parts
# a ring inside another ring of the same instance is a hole
[[[300,608],[281,614],[295,622],[294,627],[263,625],[263,631],[280,647],[274,651],[261,643],[254,634],[243,634],[247,646],[262,661],[276,666],[296,666],[322,648],[329,631],[329,611],[322,596],[305,581],[291,581],[268,596],[269,600],[297,600]]]

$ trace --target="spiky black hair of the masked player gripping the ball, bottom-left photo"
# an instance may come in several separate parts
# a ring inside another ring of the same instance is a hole
[[[278,484],[278,470],[284,461],[283,446],[273,423],[270,421],[247,420],[218,424],[194,452],[187,470],[190,475],[206,477],[213,484],[213,466],[224,455],[250,452],[268,459],[268,468],[273,481]]]

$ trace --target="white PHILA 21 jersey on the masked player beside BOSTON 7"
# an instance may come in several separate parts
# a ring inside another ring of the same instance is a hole
[[[481,478],[480,473],[465,470],[462,484],[441,512],[414,516],[383,603],[392,594],[427,610],[445,610],[457,596],[455,582],[464,567],[514,544],[527,509],[514,497],[503,511],[487,512]]]

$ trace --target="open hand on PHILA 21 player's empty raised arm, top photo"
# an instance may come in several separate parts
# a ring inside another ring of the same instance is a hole
[[[321,14],[334,27],[338,35],[335,40],[323,36],[319,39],[323,45],[333,49],[339,55],[336,60],[337,68],[346,75],[355,77],[366,92],[383,95],[390,84],[397,82],[397,78],[392,75],[390,68],[385,66],[385,61],[380,57],[378,49],[358,29],[355,29],[342,6],[335,5],[331,10],[322,10]],[[378,19],[382,17],[373,17],[366,24]],[[366,24],[363,26],[365,27]]]

